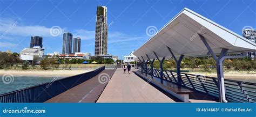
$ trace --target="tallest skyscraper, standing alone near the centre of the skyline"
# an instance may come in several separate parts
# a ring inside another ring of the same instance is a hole
[[[107,8],[98,6],[95,29],[95,56],[107,54]]]

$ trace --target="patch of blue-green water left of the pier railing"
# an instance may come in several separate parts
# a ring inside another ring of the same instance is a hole
[[[8,93],[24,89],[26,87],[35,86],[38,84],[50,82],[55,78],[61,79],[64,77],[45,77],[45,76],[0,76],[0,94]]]

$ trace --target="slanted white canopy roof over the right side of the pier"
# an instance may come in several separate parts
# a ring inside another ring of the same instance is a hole
[[[229,49],[228,53],[250,52],[256,49],[255,43],[250,40],[185,8],[133,54],[137,57],[143,56],[145,60],[146,54],[150,59],[156,58],[153,52],[156,52],[158,57],[170,58],[171,53],[166,47],[168,46],[177,57],[209,55],[198,34],[204,36],[215,54],[219,54],[223,48]]]

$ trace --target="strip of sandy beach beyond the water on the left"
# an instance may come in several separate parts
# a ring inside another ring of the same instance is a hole
[[[91,70],[0,70],[0,75],[11,74],[14,76],[73,76]]]

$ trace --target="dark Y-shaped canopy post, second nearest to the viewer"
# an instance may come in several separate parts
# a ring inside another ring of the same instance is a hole
[[[180,75],[180,63],[184,57],[184,55],[180,55],[179,60],[177,60],[176,56],[173,54],[172,50],[170,47],[166,46],[169,52],[172,54],[172,57],[174,58],[174,61],[176,62],[177,65],[177,76],[178,76],[178,87],[181,87],[181,75]]]

